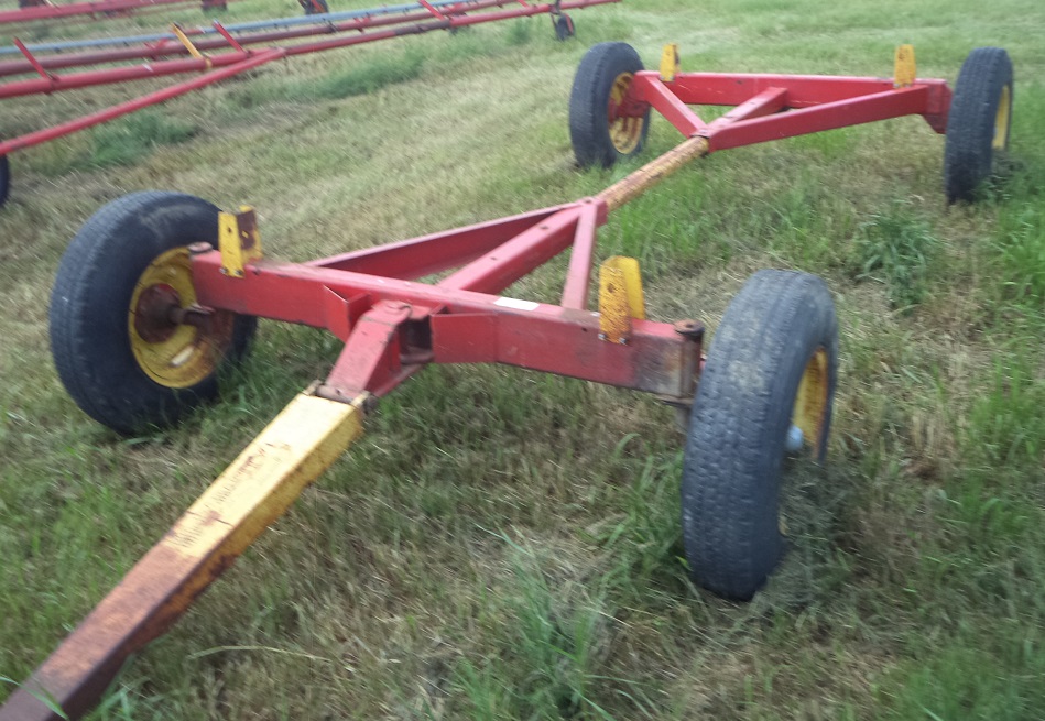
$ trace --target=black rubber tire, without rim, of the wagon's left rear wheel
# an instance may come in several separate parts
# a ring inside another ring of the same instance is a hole
[[[642,119],[638,145],[628,153],[613,145],[608,117],[610,92],[618,76],[642,69],[642,59],[628,43],[599,43],[581,58],[569,95],[569,139],[580,167],[610,167],[622,157],[642,152],[650,132],[650,111]]]

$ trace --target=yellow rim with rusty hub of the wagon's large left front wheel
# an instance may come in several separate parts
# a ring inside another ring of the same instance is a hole
[[[184,389],[214,373],[232,338],[233,316],[216,310],[205,328],[179,325],[172,312],[196,303],[187,248],[156,258],[138,278],[128,335],[138,365],[160,385]]]

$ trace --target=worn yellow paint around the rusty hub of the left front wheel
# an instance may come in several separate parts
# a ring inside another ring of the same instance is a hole
[[[142,293],[163,286],[177,294],[183,308],[196,303],[188,249],[175,248],[157,256],[138,278],[128,308],[128,337],[139,368],[160,385],[184,389],[210,375],[225,354],[232,337],[231,314],[216,312],[210,332],[194,326],[173,326],[162,340],[146,340],[135,326],[135,313]]]

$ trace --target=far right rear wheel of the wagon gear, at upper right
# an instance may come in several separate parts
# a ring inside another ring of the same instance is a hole
[[[1001,47],[977,47],[961,66],[947,116],[944,190],[950,203],[973,200],[1009,148],[1012,61]]]

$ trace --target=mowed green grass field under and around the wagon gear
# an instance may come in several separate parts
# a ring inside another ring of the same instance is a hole
[[[296,12],[244,0],[229,18]],[[126,439],[92,423],[57,381],[46,310],[104,203],[145,188],[250,203],[271,256],[308,260],[584,197],[638,166],[574,167],[567,98],[596,42],[647,66],[678,42],[685,69],[875,76],[910,42],[919,75],[951,81],[972,47],[1012,56],[1011,177],[983,203],[946,205],[943,138],[907,118],[714,155],[600,231],[600,255],[642,262],[657,319],[714,328],[766,266],[835,294],[828,461],[788,477],[791,551],[750,604],[688,580],[670,409],[431,368],[92,718],[1045,718],[1045,10],[625,0],[574,20],[565,44],[538,18],[294,58],[11,157],[0,698],[339,351],[262,323],[222,401],[181,428]],[[0,134],[128,90],[4,101]],[[677,141],[655,119],[646,157]],[[509,293],[554,302],[564,267]]]

